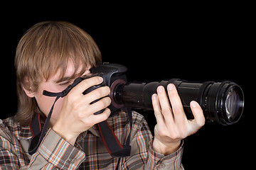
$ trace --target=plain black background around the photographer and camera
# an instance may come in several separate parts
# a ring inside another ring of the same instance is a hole
[[[94,38],[103,62],[126,65],[129,81],[179,78],[239,84],[245,93],[240,121],[230,126],[206,123],[187,137],[183,165],[185,169],[233,169],[251,164],[255,128],[250,109],[250,100],[254,100],[249,98],[255,89],[255,20],[250,4],[110,5],[116,7],[48,4],[43,10],[35,6],[1,13],[1,118],[16,113],[14,57],[18,40],[40,21],[69,21]],[[154,113],[142,113],[153,130]]]

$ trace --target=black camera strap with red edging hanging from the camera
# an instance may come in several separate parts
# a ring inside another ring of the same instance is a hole
[[[79,83],[79,82],[78,82]],[[41,123],[40,123],[40,115],[36,113],[34,118],[31,121],[31,132],[33,135],[33,138],[31,140],[31,143],[28,147],[28,154],[34,154],[38,147],[41,145],[41,142],[43,140],[43,137],[46,135],[46,132],[48,130],[48,124],[50,122],[50,117],[51,114],[53,113],[53,107],[58,101],[60,97],[64,97],[68,94],[68,92],[73,89],[74,86],[77,84],[71,84],[70,86],[67,87],[64,91],[60,93],[52,93],[49,91],[43,91],[43,95],[45,96],[50,96],[50,97],[56,97],[55,101],[53,103],[53,106],[50,108],[50,112],[48,113],[48,116],[46,118],[46,122],[43,125],[43,130],[41,130]],[[99,128],[100,131],[100,136],[102,137],[102,141],[107,149],[107,151],[112,155],[112,157],[127,157],[131,153],[131,146],[129,145],[130,143],[130,137],[131,137],[131,132],[132,132],[132,109],[127,108],[127,113],[129,115],[129,125],[130,125],[130,131],[129,135],[127,137],[127,140],[124,145],[121,145],[119,140],[117,139],[117,136],[114,135],[114,132],[110,125],[107,123],[107,120],[97,123],[97,127]]]

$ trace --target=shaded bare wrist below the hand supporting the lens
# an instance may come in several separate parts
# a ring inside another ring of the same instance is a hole
[[[177,142],[170,142],[168,145],[165,145],[155,138],[152,145],[152,149],[155,152],[164,154],[165,156],[176,152],[179,147],[181,147],[181,140],[178,140]]]

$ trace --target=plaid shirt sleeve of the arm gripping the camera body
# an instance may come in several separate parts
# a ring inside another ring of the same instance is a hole
[[[15,141],[10,135],[1,134],[0,169],[78,169],[85,160],[84,152],[63,140],[52,129],[48,130],[27,165],[18,159],[21,148]]]

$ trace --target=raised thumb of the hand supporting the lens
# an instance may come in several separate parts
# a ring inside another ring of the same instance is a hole
[[[201,128],[206,123],[203,110],[196,101],[191,101],[190,105],[194,116],[194,119],[191,120],[191,123],[195,123],[198,128]]]

